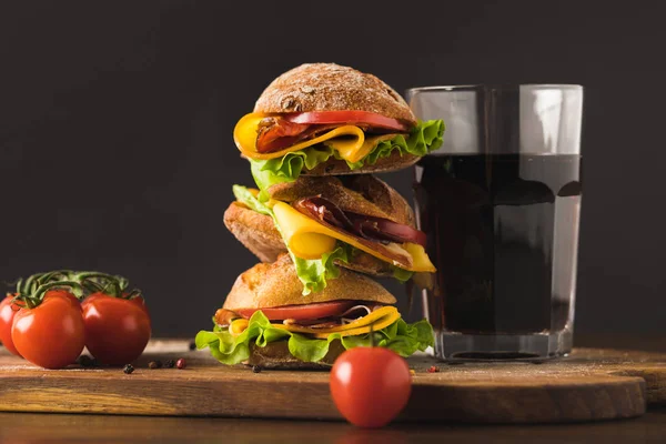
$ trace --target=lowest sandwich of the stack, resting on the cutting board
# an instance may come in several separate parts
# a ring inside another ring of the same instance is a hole
[[[395,297],[370,278],[341,270],[321,292],[304,296],[301,289],[289,254],[254,265],[236,279],[196,346],[229,365],[329,369],[356,346],[408,356],[433,345],[427,321],[407,324]]]

